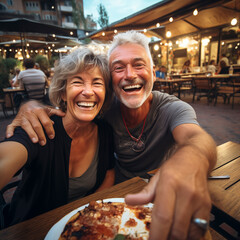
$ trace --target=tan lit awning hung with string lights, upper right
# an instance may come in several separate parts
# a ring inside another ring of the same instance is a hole
[[[197,16],[193,16],[195,9],[198,10]],[[145,34],[149,37],[166,38],[166,32],[170,31],[173,38],[229,26],[234,16],[239,21],[239,9],[239,0],[163,0],[108,27],[92,32],[88,37],[109,41],[112,40],[116,30],[122,32],[146,29]],[[173,22],[169,21],[170,17],[173,17]],[[157,24],[160,24],[160,27],[157,27]]]

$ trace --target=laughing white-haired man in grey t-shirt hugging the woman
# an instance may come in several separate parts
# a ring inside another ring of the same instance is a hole
[[[191,106],[152,92],[155,69],[144,35],[135,31],[116,35],[109,49],[109,68],[116,99],[105,118],[114,129],[116,182],[144,176],[161,165],[147,187],[126,196],[126,202],[154,202],[150,239],[199,239],[203,231],[194,222],[205,225],[209,220],[207,175],[216,161],[214,141],[198,125]],[[44,145],[39,120],[54,137],[46,113],[62,114],[28,103],[7,134],[21,125],[33,141]]]

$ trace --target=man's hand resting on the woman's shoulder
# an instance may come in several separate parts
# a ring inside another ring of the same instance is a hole
[[[49,118],[54,114],[62,117],[65,115],[61,110],[44,106],[37,101],[29,101],[21,106],[17,116],[7,126],[6,137],[11,137],[14,129],[20,126],[27,132],[32,142],[39,142],[43,146],[46,144],[43,128],[50,139],[53,139],[55,136],[53,122]]]

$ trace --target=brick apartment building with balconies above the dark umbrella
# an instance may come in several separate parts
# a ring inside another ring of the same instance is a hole
[[[75,6],[82,9],[84,14],[83,0],[74,0]],[[59,25],[66,28],[77,28],[74,23],[74,11],[72,0],[1,0],[0,19],[28,18],[48,24]],[[80,18],[81,19],[81,18]],[[79,20],[78,28],[94,30],[97,24],[88,16],[86,24]]]

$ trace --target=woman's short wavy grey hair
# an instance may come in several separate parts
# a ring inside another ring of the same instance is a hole
[[[95,54],[88,48],[77,48],[59,60],[49,88],[49,98],[52,104],[66,111],[62,96],[66,92],[67,79],[95,67],[99,69],[105,81],[106,96],[103,108],[107,109],[112,99],[107,56]]]

